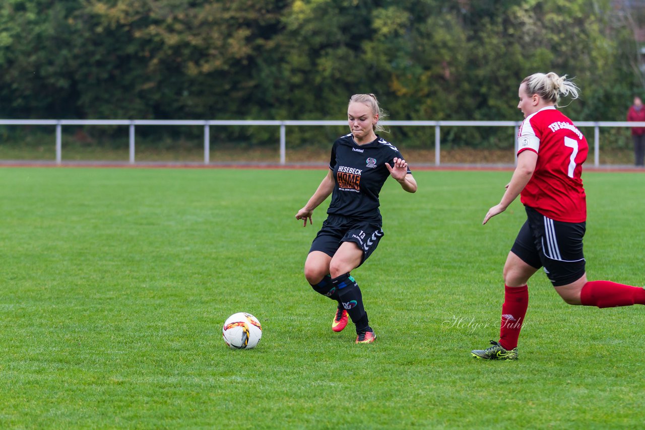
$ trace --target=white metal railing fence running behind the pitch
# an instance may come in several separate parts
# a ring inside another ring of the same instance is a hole
[[[441,127],[514,127],[517,130],[521,121],[383,121],[384,126],[434,127],[435,128],[435,165],[441,165]],[[287,126],[346,126],[347,121],[255,121],[255,120],[156,120],[156,119],[0,119],[0,125],[53,125],[56,126],[56,164],[63,161],[63,126],[128,126],[130,128],[130,164],[135,164],[135,126],[203,126],[204,127],[204,164],[210,163],[211,126],[279,126],[280,127],[280,164],[286,164],[286,127]],[[600,165],[600,127],[645,127],[645,122],[627,121],[579,121],[575,125],[593,127],[593,165]],[[517,151],[517,138],[513,148]]]

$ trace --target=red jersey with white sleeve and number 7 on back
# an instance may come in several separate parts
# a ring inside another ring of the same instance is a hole
[[[556,221],[584,222],[587,200],[581,176],[589,151],[584,135],[549,106],[528,115],[517,137],[518,155],[526,150],[538,155],[533,176],[522,190],[522,203]]]

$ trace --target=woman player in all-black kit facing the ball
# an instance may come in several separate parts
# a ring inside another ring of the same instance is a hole
[[[332,330],[339,332],[347,317],[356,325],[356,343],[371,344],[376,335],[363,307],[361,289],[350,272],[370,257],[383,236],[379,192],[391,175],[408,193],[417,182],[397,148],[376,132],[383,113],[373,94],[352,95],[347,107],[351,133],[332,146],[332,158],[323,182],[296,219],[312,224],[312,213],[332,194],[328,217],[313,239],[304,263],[304,277],[312,288],[336,300]]]

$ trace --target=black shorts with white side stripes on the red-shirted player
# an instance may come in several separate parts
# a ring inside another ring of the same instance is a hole
[[[582,237],[586,222],[550,219],[525,206],[528,219],[517,233],[511,251],[536,269],[544,267],[554,287],[579,280],[585,271]]]

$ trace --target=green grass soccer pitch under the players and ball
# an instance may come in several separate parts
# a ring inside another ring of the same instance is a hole
[[[645,307],[565,304],[541,271],[517,362],[499,336],[519,201],[510,171],[388,181],[385,237],[352,272],[372,345],[330,329],[302,267],[321,170],[0,168],[0,427],[640,427]],[[586,172],[590,279],[642,286],[645,174]],[[226,347],[226,317],[263,324]]]

